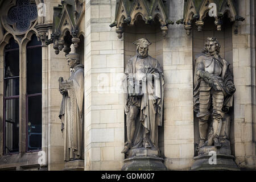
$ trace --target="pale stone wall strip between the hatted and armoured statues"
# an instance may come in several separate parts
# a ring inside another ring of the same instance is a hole
[[[184,1],[170,1],[169,19],[183,17]],[[163,43],[164,156],[171,170],[190,169],[194,156],[192,36],[169,26]]]

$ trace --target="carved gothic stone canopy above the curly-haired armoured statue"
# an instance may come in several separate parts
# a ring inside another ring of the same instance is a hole
[[[197,31],[202,31],[204,26],[204,19],[212,10],[210,3],[216,4],[216,16],[214,24],[218,31],[221,31],[222,18],[225,13],[228,13],[228,18],[231,22],[243,21],[242,18],[237,14],[236,3],[234,0],[184,0],[184,15],[183,19],[177,20],[177,24],[184,24],[187,35],[191,34],[192,20],[196,21]]]

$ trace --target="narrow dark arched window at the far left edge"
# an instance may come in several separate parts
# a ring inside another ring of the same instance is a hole
[[[19,45],[14,38],[4,49],[3,150],[19,152]]]

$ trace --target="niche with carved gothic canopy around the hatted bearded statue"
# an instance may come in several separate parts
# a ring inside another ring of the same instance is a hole
[[[167,9],[169,9],[169,1],[117,1],[116,20],[110,27],[116,26],[118,38],[123,38],[125,67],[127,61],[136,55],[136,46],[132,43],[141,38],[146,38],[152,43],[148,55],[163,66],[163,39],[168,34],[168,24],[173,24],[168,20]],[[126,133],[125,127],[125,137]],[[159,127],[158,136],[160,155],[163,157],[164,126]]]

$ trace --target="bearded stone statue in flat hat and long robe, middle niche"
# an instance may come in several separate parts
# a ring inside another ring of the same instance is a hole
[[[123,79],[127,142],[122,153],[127,154],[130,149],[148,148],[159,155],[158,126],[162,126],[163,119],[163,69],[158,60],[148,55],[151,43],[147,39],[139,39],[133,44],[137,46],[137,55],[128,61]]]

